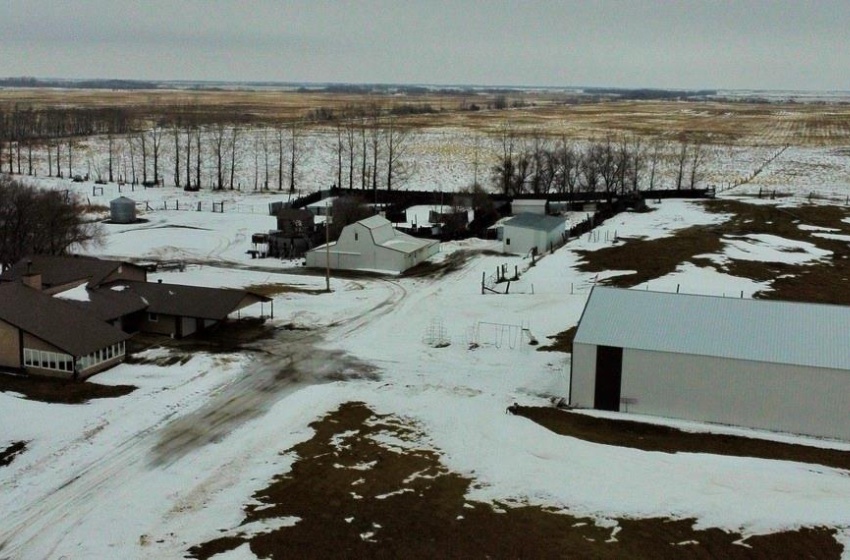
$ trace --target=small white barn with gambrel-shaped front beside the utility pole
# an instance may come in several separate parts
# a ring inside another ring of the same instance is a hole
[[[307,251],[307,266],[334,270],[401,273],[435,255],[439,241],[419,239],[392,227],[383,216],[345,226],[337,241]]]

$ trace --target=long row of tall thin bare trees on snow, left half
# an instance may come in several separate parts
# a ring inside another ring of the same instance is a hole
[[[58,127],[49,134],[41,125],[33,128],[31,121],[50,122],[58,114],[52,109],[0,113],[0,170],[149,186],[168,180],[190,190],[241,188],[240,179],[247,178],[254,190],[294,193],[304,163],[321,147],[307,134],[316,123],[306,119],[240,123],[213,119],[191,106],[171,107],[157,118],[104,111],[94,113],[101,120],[86,121],[88,128]],[[333,144],[324,150],[335,153],[337,185],[392,190],[412,175],[411,128],[391,108],[346,107],[322,127],[335,130],[324,135]],[[86,136],[100,139],[87,141],[81,155]]]

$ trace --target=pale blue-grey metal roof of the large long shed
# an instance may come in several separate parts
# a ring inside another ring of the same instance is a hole
[[[850,369],[850,307],[597,286],[574,342]]]

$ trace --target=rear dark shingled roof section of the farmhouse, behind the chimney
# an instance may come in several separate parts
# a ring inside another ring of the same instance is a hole
[[[81,280],[94,287],[121,266],[136,265],[80,255],[32,255],[19,260],[0,274],[0,281],[19,281],[26,274],[32,273],[41,274],[41,283],[48,289]]]

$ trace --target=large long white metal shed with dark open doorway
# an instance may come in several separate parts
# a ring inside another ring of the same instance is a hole
[[[596,287],[572,406],[850,440],[850,307]]]

